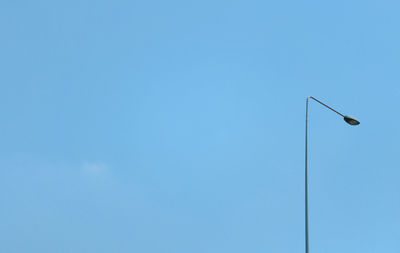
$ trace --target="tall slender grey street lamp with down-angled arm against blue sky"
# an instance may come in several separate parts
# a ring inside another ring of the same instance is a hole
[[[356,119],[353,116],[347,116],[347,115],[343,115],[340,112],[336,111],[335,109],[333,109],[332,107],[322,103],[321,101],[319,101],[318,99],[314,98],[314,97],[307,97],[307,101],[306,101],[306,147],[305,147],[305,228],[306,228],[306,234],[305,234],[305,239],[306,239],[306,253],[309,253],[309,243],[308,243],[308,238],[309,238],[309,234],[308,234],[308,100],[309,99],[313,99],[314,101],[317,101],[318,103],[320,103],[321,105],[325,106],[326,108],[332,110],[333,112],[337,113],[338,115],[340,115],[341,117],[343,117],[344,121],[346,121],[348,124],[352,125],[352,126],[356,126],[358,124],[360,124],[360,121],[358,121],[358,119]]]

